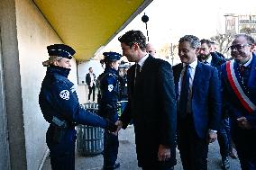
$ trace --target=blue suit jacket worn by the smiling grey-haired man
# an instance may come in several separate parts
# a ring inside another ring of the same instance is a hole
[[[174,83],[178,96],[178,81],[182,64],[173,67]],[[192,85],[191,112],[199,138],[206,138],[208,130],[218,130],[222,117],[220,78],[215,67],[198,61]],[[178,99],[178,98],[177,98]],[[178,122],[182,118],[178,115]],[[179,124],[179,123],[178,123]]]

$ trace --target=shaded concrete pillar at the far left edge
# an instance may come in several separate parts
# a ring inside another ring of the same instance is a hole
[[[25,138],[23,128],[23,102],[22,102],[22,88],[19,65],[19,50],[17,41],[16,15],[15,15],[15,1],[1,0],[0,1],[0,26],[1,26],[1,73],[3,79],[0,80],[0,90],[2,92],[0,103],[5,104],[0,107],[5,114],[0,115],[0,120],[6,122],[6,130],[8,132],[8,148],[4,149],[5,155],[9,152],[9,159],[3,165],[5,168],[0,169],[27,169]],[[2,82],[3,81],[3,82]],[[4,86],[1,86],[4,85]],[[1,93],[0,92],[0,93]],[[1,106],[1,105],[0,105]],[[3,118],[5,117],[6,118]],[[6,120],[6,121],[5,121]],[[5,123],[4,123],[5,124]],[[2,141],[5,142],[5,141]],[[9,151],[7,151],[9,150]],[[1,153],[2,155],[3,153]],[[3,157],[3,156],[1,156]],[[8,164],[10,163],[10,166]],[[2,163],[1,163],[2,164]]]

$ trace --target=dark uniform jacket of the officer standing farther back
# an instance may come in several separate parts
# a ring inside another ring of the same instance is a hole
[[[100,77],[99,114],[110,121],[117,121],[117,102],[119,99],[117,71],[105,67]],[[114,116],[116,114],[116,116]]]

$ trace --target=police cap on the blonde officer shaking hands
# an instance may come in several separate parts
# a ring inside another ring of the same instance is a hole
[[[65,44],[53,44],[47,46],[49,56],[59,56],[71,59],[76,53],[74,49]]]

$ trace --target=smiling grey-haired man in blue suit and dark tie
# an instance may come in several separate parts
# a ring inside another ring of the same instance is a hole
[[[221,91],[215,67],[197,60],[200,40],[186,35],[178,41],[182,63],[173,67],[178,102],[178,149],[185,170],[207,169],[208,143],[217,138]]]

